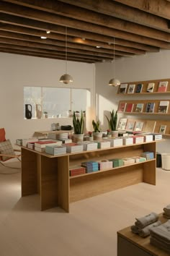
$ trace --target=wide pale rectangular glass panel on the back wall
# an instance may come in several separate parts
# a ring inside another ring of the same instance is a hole
[[[86,111],[91,105],[89,89],[47,88],[24,86],[24,118],[25,106],[31,106],[32,118],[37,118],[37,109],[42,112],[42,118],[69,117],[73,111]],[[41,118],[40,117],[40,118]]]

